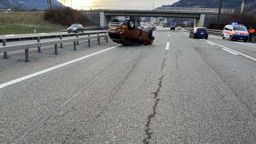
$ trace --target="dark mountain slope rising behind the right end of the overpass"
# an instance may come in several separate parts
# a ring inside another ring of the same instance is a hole
[[[163,5],[161,7],[198,7],[198,8],[219,8],[220,0],[180,0],[172,5]],[[242,0],[222,0],[223,9],[234,9],[240,12]],[[256,0],[245,0],[244,11],[255,13]]]

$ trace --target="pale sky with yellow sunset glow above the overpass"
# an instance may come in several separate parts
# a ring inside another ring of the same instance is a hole
[[[71,7],[71,0],[57,0],[66,6]],[[173,4],[178,0],[154,0],[154,7]],[[72,7],[76,6],[134,6],[134,7],[152,7],[153,0],[72,0]]]

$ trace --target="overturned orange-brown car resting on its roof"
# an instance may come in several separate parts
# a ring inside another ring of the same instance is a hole
[[[127,22],[119,22],[113,19],[108,25],[108,35],[112,41],[118,44],[138,46],[152,44],[155,37],[152,36],[153,30],[149,33],[135,27],[133,19]]]

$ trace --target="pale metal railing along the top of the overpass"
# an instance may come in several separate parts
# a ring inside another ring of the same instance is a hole
[[[77,6],[77,10],[165,10],[165,11],[198,11],[198,12],[218,12],[218,8],[194,8],[194,7],[125,7],[125,6]],[[232,9],[221,9],[222,13],[233,13]]]

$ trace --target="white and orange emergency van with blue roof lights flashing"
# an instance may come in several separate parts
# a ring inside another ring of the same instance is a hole
[[[226,25],[222,33],[222,39],[229,38],[230,41],[243,40],[244,42],[247,42],[248,37],[249,33],[246,27],[237,23]]]

